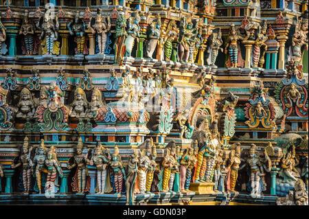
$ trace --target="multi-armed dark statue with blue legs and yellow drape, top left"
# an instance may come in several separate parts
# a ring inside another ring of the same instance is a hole
[[[41,16],[37,27],[39,30],[42,30],[40,39],[43,41],[43,54],[58,55],[60,45],[57,41],[59,30],[58,16],[52,14],[51,10],[47,10],[44,16]]]

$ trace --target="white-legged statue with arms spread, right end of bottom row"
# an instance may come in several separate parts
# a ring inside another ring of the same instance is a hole
[[[250,168],[251,196],[253,198],[260,196],[260,177],[264,175],[262,163],[260,162],[258,154],[256,154],[255,148],[255,144],[251,143],[249,158],[246,160],[246,163],[239,168],[239,170],[242,170],[246,165]]]

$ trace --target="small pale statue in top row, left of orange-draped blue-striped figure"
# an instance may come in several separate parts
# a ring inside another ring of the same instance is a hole
[[[220,48],[220,46],[223,43],[221,28],[217,28],[216,31],[214,31],[209,36],[208,41],[209,41],[208,54],[209,54],[210,61],[207,64],[215,65],[219,49],[223,52],[223,49]]]

